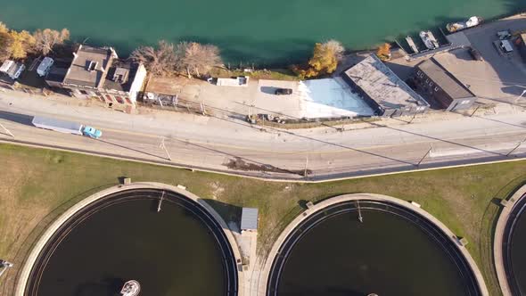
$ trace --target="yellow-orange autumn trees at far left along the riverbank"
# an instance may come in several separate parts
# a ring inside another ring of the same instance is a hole
[[[70,39],[70,31],[62,29],[37,29],[33,34],[26,30],[8,29],[0,22],[0,61],[24,59],[31,53],[49,54],[58,45]]]

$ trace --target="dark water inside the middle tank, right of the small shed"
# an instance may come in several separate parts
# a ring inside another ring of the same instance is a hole
[[[325,219],[292,247],[278,295],[466,295],[456,263],[430,235],[376,210]]]

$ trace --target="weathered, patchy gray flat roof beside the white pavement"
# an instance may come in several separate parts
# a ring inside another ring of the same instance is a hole
[[[399,109],[408,105],[429,106],[423,98],[400,79],[374,54],[344,72],[363,92],[383,109]]]

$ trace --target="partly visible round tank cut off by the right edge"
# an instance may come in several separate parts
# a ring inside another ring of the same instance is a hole
[[[507,201],[495,232],[495,265],[505,296],[526,295],[526,185]]]

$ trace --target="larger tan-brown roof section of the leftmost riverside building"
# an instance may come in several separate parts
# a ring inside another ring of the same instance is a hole
[[[66,85],[99,88],[103,86],[111,63],[117,53],[111,47],[96,48],[80,45],[74,54],[73,62],[66,73]]]

